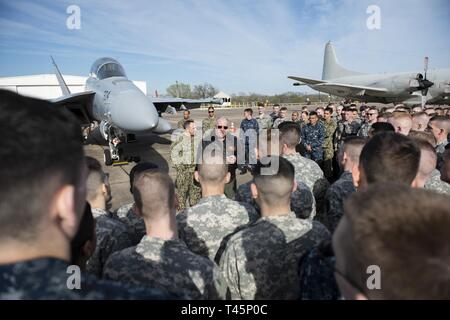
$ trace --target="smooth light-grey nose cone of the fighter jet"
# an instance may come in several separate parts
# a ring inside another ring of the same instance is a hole
[[[111,105],[111,118],[121,129],[142,132],[158,125],[158,112],[142,92],[130,90],[115,98]]]

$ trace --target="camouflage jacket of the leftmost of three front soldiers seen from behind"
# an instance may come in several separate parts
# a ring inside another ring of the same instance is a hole
[[[214,262],[191,252],[180,239],[145,236],[114,253],[105,278],[181,293],[187,299],[224,299],[225,281]]]

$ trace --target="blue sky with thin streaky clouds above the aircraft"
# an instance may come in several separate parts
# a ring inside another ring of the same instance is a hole
[[[69,30],[69,5],[81,29]],[[369,30],[369,5],[381,29]],[[297,91],[288,75],[320,79],[331,40],[345,67],[361,72],[450,67],[448,0],[0,0],[0,76],[87,75],[101,56],[163,93],[175,81],[227,93]],[[304,90],[304,89],[300,89]]]

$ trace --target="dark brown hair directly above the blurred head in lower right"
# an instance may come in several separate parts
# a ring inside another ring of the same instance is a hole
[[[359,160],[369,184],[396,182],[409,185],[417,175],[419,162],[417,144],[392,132],[374,135],[362,149]]]

